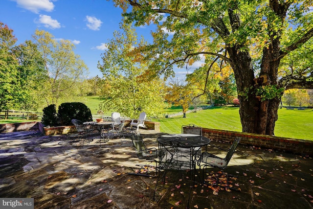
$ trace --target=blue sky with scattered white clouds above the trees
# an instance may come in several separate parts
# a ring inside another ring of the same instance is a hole
[[[75,53],[89,68],[89,77],[102,77],[97,63],[101,63],[105,43],[119,30],[121,13],[122,9],[107,0],[0,0],[0,21],[14,30],[18,44],[31,40],[36,29],[71,40]],[[154,29],[153,25],[136,27],[136,32],[151,42]],[[179,80],[187,73],[185,69],[175,71]]]

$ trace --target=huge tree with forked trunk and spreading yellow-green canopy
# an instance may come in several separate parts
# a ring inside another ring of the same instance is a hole
[[[232,68],[243,132],[274,135],[283,90],[313,88],[312,0],[113,1],[136,26],[157,25],[140,47],[150,72],[171,76],[199,55]]]

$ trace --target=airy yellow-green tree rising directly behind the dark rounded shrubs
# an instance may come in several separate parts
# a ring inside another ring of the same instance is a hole
[[[44,30],[36,30],[33,39],[45,66],[46,80],[40,96],[47,105],[77,100],[81,95],[81,79],[88,69],[74,53],[74,45],[68,40],[57,41]]]

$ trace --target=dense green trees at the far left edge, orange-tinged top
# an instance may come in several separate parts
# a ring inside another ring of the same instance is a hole
[[[13,30],[0,23],[0,110],[37,110],[43,60],[31,41],[16,46]]]

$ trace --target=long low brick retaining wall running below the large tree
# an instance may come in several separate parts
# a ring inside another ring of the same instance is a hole
[[[273,150],[283,150],[295,154],[313,156],[313,141],[303,139],[291,139],[284,137],[271,137],[268,135],[249,134],[244,132],[224,131],[202,128],[202,135],[213,140],[225,142],[233,141],[240,137],[241,144],[262,147]]]

